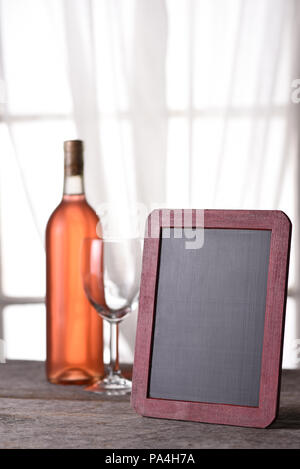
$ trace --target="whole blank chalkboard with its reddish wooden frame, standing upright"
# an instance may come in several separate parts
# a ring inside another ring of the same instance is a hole
[[[204,243],[187,249],[198,232]],[[158,210],[146,233],[133,407],[268,426],[279,406],[290,220],[280,211]]]

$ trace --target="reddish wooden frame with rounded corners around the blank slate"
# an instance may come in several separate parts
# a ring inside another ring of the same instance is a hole
[[[184,210],[190,224],[197,227],[196,210]],[[152,354],[160,231],[164,227],[183,227],[174,211],[156,210],[148,217],[152,237],[145,238],[140,305],[133,368],[132,406],[141,415],[192,420],[207,423],[264,428],[277,416],[283,348],[291,222],[281,211],[205,210],[204,228],[271,230],[270,258],[266,296],[262,367],[258,407],[176,401],[148,397]],[[183,217],[182,217],[183,218]],[[154,224],[153,233],[153,219]],[[203,225],[202,225],[203,227]],[[153,236],[154,234],[154,236]]]

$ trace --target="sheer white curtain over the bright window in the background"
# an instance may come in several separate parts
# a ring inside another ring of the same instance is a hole
[[[300,77],[299,8],[297,0],[1,0],[2,293],[44,294],[43,232],[61,193],[61,142],[78,137],[99,211],[104,202],[138,202],[289,215],[284,364],[298,366],[291,83]],[[13,323],[32,315],[14,301],[4,311],[9,356],[19,353]],[[40,308],[28,336],[44,328]],[[135,320],[121,331],[126,359]]]

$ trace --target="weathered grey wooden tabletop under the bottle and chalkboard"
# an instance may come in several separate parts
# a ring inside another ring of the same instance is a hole
[[[129,397],[48,384],[44,364],[0,365],[0,448],[299,448],[300,371],[285,371],[279,418],[266,430],[144,418]]]

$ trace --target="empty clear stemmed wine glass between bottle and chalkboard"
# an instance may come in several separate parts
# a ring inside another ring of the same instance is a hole
[[[85,238],[81,250],[84,291],[98,314],[110,324],[110,364],[100,381],[86,387],[107,395],[131,391],[131,381],[119,369],[119,323],[137,306],[142,264],[140,238]]]

